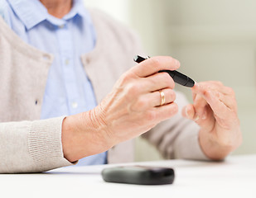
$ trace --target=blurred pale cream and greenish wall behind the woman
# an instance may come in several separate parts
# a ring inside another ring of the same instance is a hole
[[[171,55],[196,81],[233,87],[244,144],[256,153],[256,2],[254,0],[85,0],[133,28],[149,55]],[[189,89],[176,86],[191,100]],[[137,160],[161,158],[137,139]]]

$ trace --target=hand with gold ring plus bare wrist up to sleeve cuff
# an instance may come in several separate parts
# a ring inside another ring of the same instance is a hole
[[[66,117],[62,129],[65,158],[73,162],[102,153],[175,115],[174,82],[168,73],[157,72],[179,67],[179,61],[171,57],[144,60],[123,73],[99,106]],[[165,95],[162,106],[159,91]]]

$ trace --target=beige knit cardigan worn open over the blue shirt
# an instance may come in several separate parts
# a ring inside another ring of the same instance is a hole
[[[92,52],[81,56],[98,103],[141,53],[136,36],[126,27],[91,10],[97,34]],[[46,38],[45,38],[46,39]],[[47,40],[46,40],[47,42]],[[0,17],[0,172],[44,172],[72,165],[63,157],[61,125],[65,116],[40,120],[52,54],[23,42]],[[186,105],[177,92],[176,102]],[[143,135],[166,158],[205,159],[198,144],[199,127],[175,115]],[[86,146],[86,145],[85,145]],[[150,154],[150,153],[149,153]],[[108,152],[109,163],[133,161],[133,140]]]

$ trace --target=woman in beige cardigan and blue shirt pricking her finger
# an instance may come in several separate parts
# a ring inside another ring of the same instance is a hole
[[[81,0],[1,0],[0,13],[0,172],[131,162],[141,134],[165,158],[221,160],[241,144],[231,88],[198,82],[188,104],[157,73],[178,60],[134,64],[137,36]]]

